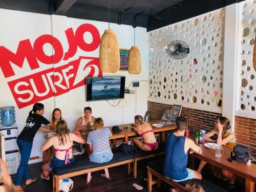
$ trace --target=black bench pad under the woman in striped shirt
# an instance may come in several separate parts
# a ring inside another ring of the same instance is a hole
[[[99,166],[110,165],[113,163],[125,161],[125,160],[132,159],[132,158],[134,158],[134,155],[123,154],[123,153],[117,152],[117,153],[114,153],[113,159],[106,163],[94,163],[94,162],[91,162],[89,159],[83,159],[83,160],[75,161],[75,163],[70,166],[54,168],[53,171],[54,171],[55,175],[64,175],[64,174],[68,174],[68,173],[72,173],[72,172],[77,172],[78,170],[84,170],[84,169],[88,169],[88,168],[95,168],[95,167],[99,167]]]

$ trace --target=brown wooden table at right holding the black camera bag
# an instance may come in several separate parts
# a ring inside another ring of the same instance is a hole
[[[233,151],[233,149],[227,146],[223,146],[224,155],[221,157],[215,157],[215,150],[211,150],[203,144],[201,145],[201,148],[202,154],[193,153],[189,155],[245,178],[245,191],[254,192],[256,183],[256,164],[247,165],[237,161],[228,161],[227,159],[230,157],[230,152]]]

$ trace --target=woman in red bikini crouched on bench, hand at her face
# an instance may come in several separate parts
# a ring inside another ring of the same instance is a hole
[[[134,117],[134,122],[135,125],[133,126],[133,129],[142,137],[143,142],[139,139],[133,138],[131,145],[137,145],[141,150],[144,151],[157,150],[158,142],[151,124],[148,122],[143,122],[143,118],[140,115],[136,115]]]

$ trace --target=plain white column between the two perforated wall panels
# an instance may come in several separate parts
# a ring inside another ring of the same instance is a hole
[[[242,14],[241,14],[242,15]],[[223,105],[222,115],[229,118],[232,129],[234,127],[234,113],[236,112],[236,79],[239,75],[238,66],[241,57],[241,22],[239,4],[235,3],[225,8],[224,35],[224,67],[223,67]]]

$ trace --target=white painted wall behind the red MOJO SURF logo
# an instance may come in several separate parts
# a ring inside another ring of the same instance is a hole
[[[100,35],[103,34],[105,29],[108,29],[108,23],[103,22],[5,9],[0,9],[0,18],[4,18],[0,20],[0,46],[4,46],[13,53],[16,53],[19,41],[30,39],[31,44],[33,45],[35,39],[44,34],[50,34],[58,38],[64,52],[66,52],[69,49],[65,34],[65,30],[67,30],[67,28],[73,28],[73,31],[76,31],[77,27],[81,24],[88,23],[94,25],[98,29]],[[111,29],[114,29],[119,38],[120,48],[130,49],[131,46],[133,46],[134,29],[131,26],[118,26],[117,24],[111,24],[110,27]],[[89,36],[90,34],[84,34],[84,38]],[[141,74],[130,75],[128,72],[118,72],[115,74],[103,74],[103,76],[125,76],[125,87],[128,87],[130,82],[134,80],[148,80],[148,34],[146,29],[139,27],[136,28],[136,46],[139,47],[142,55]],[[52,46],[50,44],[45,44],[44,52],[47,55],[52,55]],[[68,62],[79,58],[79,56],[99,57],[99,47],[92,52],[85,52],[78,49],[76,54],[72,58],[69,58],[68,61],[63,61],[63,59],[61,59],[61,61],[56,63],[54,65],[54,69],[56,67],[66,65]],[[39,64],[40,68],[31,70],[28,66],[27,60],[25,59],[23,68],[19,68],[15,65],[12,66],[15,71],[15,75],[8,78],[5,78],[2,70],[0,70],[2,93],[0,95],[0,106],[15,106],[16,124],[19,132],[22,131],[25,125],[26,118],[29,111],[32,109],[32,105],[18,109],[7,82],[42,70],[53,68],[53,65],[46,65],[40,62]],[[140,114],[143,116],[147,110],[148,82],[145,81],[140,82],[140,87],[137,89],[137,99],[135,94],[125,94],[124,99],[119,103],[119,105],[123,107],[111,106],[107,101],[86,102],[85,90],[85,86],[82,86],[65,94],[39,101],[45,104],[44,116],[50,120],[52,110],[56,107],[60,108],[62,111],[62,117],[67,120],[70,129],[73,131],[75,129],[77,119],[83,115],[84,106],[91,106],[93,110],[92,115],[95,117],[102,117],[106,126],[131,123],[133,122],[134,115]],[[110,103],[116,104],[117,101],[119,100],[111,100]],[[31,157],[39,156],[41,160],[42,152],[40,151],[40,147],[44,141],[44,133],[38,131],[34,138]]]

